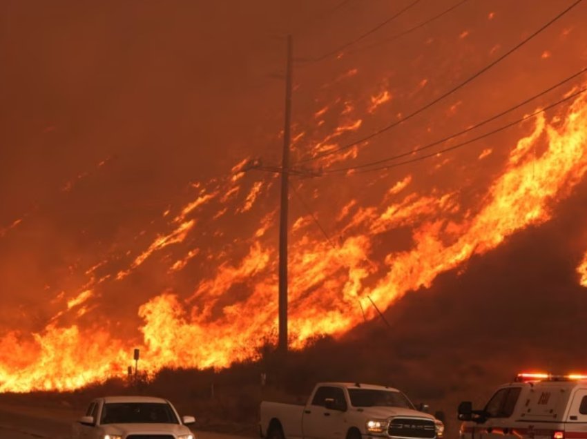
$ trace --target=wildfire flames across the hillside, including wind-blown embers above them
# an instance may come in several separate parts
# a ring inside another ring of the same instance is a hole
[[[500,17],[490,12],[487,19],[497,22]],[[458,40],[465,44],[476,37],[477,32],[463,30]],[[453,35],[452,40],[457,38]],[[493,43],[494,49],[488,46],[483,53],[501,47]],[[558,57],[551,58],[550,51],[543,54],[548,56],[535,58],[550,61],[541,64],[552,64]],[[344,73],[335,75],[320,92],[331,93],[336,86],[363,75],[363,70],[359,75],[358,68],[348,66],[340,71]],[[412,76],[407,83],[416,81],[415,90],[407,87],[405,95],[387,87],[390,81],[386,79],[385,88],[371,88],[360,99],[316,99],[316,107],[307,112],[312,125],[298,130],[292,155],[319,158],[318,166],[328,168],[367,151],[372,146],[367,142],[338,148],[363,130],[369,132],[370,119],[382,109],[388,117],[401,117],[396,101],[405,97],[417,101],[427,92],[439,95],[436,79],[428,73]],[[373,94],[374,90],[378,91]],[[453,115],[460,115],[464,106],[464,99],[459,100],[441,114],[456,119]],[[458,188],[422,188],[418,173],[412,170],[402,175],[389,171],[372,175],[362,180],[363,193],[345,192],[345,185],[336,180],[319,186],[292,176],[296,191],[309,195],[318,210],[302,211],[292,197],[292,347],[305,347],[316,334],[346,333],[365,318],[376,318],[373,304],[385,310],[406,293],[430,287],[437,276],[463,266],[470,257],[492,251],[514,233],[547,222],[587,171],[586,95],[578,95],[557,111],[554,117],[541,114],[526,121],[512,139],[473,151],[467,166],[485,166],[493,160],[494,168],[484,176],[487,180],[476,188],[472,200],[465,199]],[[434,132],[436,128],[430,125],[426,121],[421,131]],[[402,135],[409,137],[398,133],[396,138]],[[281,136],[276,133],[272,140],[280,141]],[[379,152],[391,149],[391,141],[381,142]],[[332,153],[335,150],[338,152]],[[232,166],[228,175],[191,184],[190,197],[173,204],[166,200],[152,221],[137,229],[142,232],[131,233],[128,241],[134,239],[132,246],[113,246],[86,266],[77,262],[68,266],[75,287],[55,290],[48,302],[57,311],[43,322],[44,327],[32,334],[10,331],[0,335],[0,391],[77,389],[121,376],[136,347],[142,351],[142,370],[149,374],[163,367],[228,367],[253,358],[278,326],[277,177],[257,176],[252,181],[247,171],[260,167],[258,163],[247,157]],[[425,168],[427,175],[446,173],[452,164],[458,166],[450,153],[438,154],[430,163]],[[87,176],[79,174],[64,191],[76,192],[77,182]],[[358,175],[349,173],[324,178],[355,177]],[[376,185],[385,188],[376,191]],[[344,196],[335,200],[338,193]],[[331,203],[318,208],[325,198]],[[164,211],[163,206],[167,206]],[[318,220],[328,223],[331,236],[327,239],[314,230]],[[8,231],[18,233],[21,222],[17,219],[0,229],[0,237]],[[398,229],[407,230],[409,242],[401,248],[382,246],[385,236]],[[212,244],[206,248],[204,242]],[[106,293],[132,295],[144,288],[133,281],[151,270],[151,263],[159,266],[157,275],[164,280],[157,278],[157,285],[163,286],[137,302],[131,316],[139,322],[134,333],[119,335],[124,333],[117,326],[120,322],[107,314],[88,317]],[[190,271],[192,267],[197,269]],[[577,273],[581,285],[587,287],[587,254]],[[182,276],[189,280],[177,281]]]

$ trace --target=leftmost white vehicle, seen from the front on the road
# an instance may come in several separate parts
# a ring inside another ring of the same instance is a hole
[[[73,439],[194,439],[168,400],[148,396],[108,396],[90,403],[73,425]]]

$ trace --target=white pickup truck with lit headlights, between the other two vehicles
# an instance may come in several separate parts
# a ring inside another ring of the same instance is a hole
[[[305,406],[263,401],[260,414],[268,439],[436,439],[444,430],[401,391],[348,382],[316,384]]]

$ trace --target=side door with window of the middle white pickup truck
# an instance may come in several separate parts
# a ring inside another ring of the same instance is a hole
[[[341,410],[326,408],[326,400],[333,399]],[[344,409],[344,411],[342,410]],[[347,402],[345,392],[340,387],[320,386],[314,393],[302,418],[302,431],[305,439],[345,439],[345,415]]]

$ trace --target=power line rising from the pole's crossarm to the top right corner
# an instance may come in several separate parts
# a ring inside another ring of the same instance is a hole
[[[345,150],[345,149],[351,148],[352,146],[361,144],[361,143],[363,143],[363,142],[365,142],[365,141],[367,141],[369,139],[372,139],[372,138],[374,138],[374,137],[376,137],[378,135],[381,135],[381,134],[385,133],[385,131],[390,130],[391,128],[394,128],[395,126],[398,126],[399,124],[402,124],[403,122],[407,121],[408,119],[412,119],[412,117],[414,117],[416,115],[419,115],[424,110],[427,110],[428,108],[434,106],[434,104],[437,104],[438,102],[442,101],[446,97],[452,95],[454,92],[456,92],[456,90],[459,90],[460,88],[463,88],[465,85],[469,84],[474,79],[477,79],[477,77],[481,76],[484,72],[490,70],[490,68],[492,68],[495,65],[497,65],[500,61],[503,61],[503,59],[506,59],[506,57],[512,55],[513,52],[515,52],[516,50],[518,50],[519,48],[521,48],[522,46],[524,46],[531,39],[535,38],[537,35],[539,35],[541,32],[543,32],[543,30],[546,30],[553,23],[555,23],[555,21],[561,19],[561,17],[563,17],[567,12],[569,12],[570,10],[572,10],[572,8],[575,8],[575,6],[577,6],[579,3],[581,3],[581,1],[583,1],[583,0],[576,0],[568,8],[566,8],[565,10],[563,10],[562,12],[560,12],[559,14],[557,14],[553,19],[550,19],[550,21],[548,21],[548,23],[544,24],[543,26],[541,26],[541,28],[539,28],[538,30],[536,30],[535,32],[533,32],[529,37],[526,37],[520,43],[518,43],[516,46],[514,46],[513,48],[511,48],[510,50],[508,50],[506,53],[504,53],[503,55],[501,55],[501,57],[495,59],[494,61],[492,61],[487,66],[483,67],[481,70],[479,70],[478,72],[474,73],[474,75],[468,77],[468,79],[465,79],[465,81],[461,82],[461,84],[459,84],[459,85],[451,88],[450,90],[448,90],[448,92],[443,93],[443,95],[441,95],[441,96],[437,97],[436,99],[430,101],[425,106],[423,106],[421,108],[418,108],[418,110],[413,111],[412,113],[408,114],[407,116],[405,116],[405,117],[403,117],[401,119],[398,119],[397,121],[393,122],[392,124],[389,124],[387,126],[384,126],[383,128],[380,128],[380,129],[374,131],[373,133],[371,133],[371,134],[369,134],[369,135],[367,135],[365,137],[362,137],[361,139],[358,139],[358,140],[356,140],[354,142],[351,142],[349,144],[345,144],[343,146],[339,146],[338,148],[327,150],[324,153],[319,153],[319,154],[315,155],[314,157],[308,157],[307,159],[301,159],[298,163],[311,162],[311,161],[320,159],[322,157],[327,157],[328,155],[332,155],[334,153],[338,153],[341,150]]]

